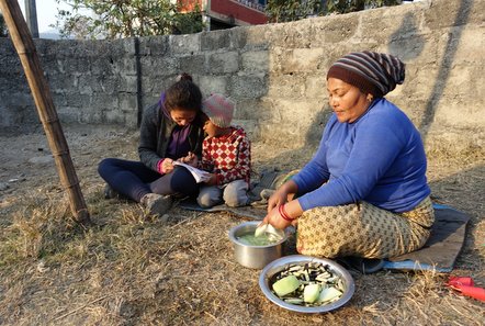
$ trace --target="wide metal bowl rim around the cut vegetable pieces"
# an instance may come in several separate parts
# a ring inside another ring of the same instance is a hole
[[[275,273],[284,270],[290,265],[305,265],[311,261],[328,265],[331,268],[332,272],[337,273],[341,278],[346,290],[343,291],[343,294],[339,300],[320,306],[302,306],[284,302],[271,291],[270,280]],[[350,276],[350,273],[343,267],[341,267],[340,265],[338,265],[337,262],[330,259],[314,258],[303,255],[286,256],[270,262],[261,271],[261,274],[259,277],[259,286],[261,288],[262,293],[264,293],[266,297],[268,297],[271,302],[275,303],[277,305],[292,312],[307,313],[307,314],[326,313],[339,308],[340,306],[345,305],[356,292],[356,283],[352,277]]]

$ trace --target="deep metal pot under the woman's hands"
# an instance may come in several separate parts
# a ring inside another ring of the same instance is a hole
[[[238,239],[244,235],[253,234],[259,223],[258,221],[245,222],[229,231],[229,239],[234,245],[234,257],[244,267],[261,269],[282,256],[283,243],[287,239],[284,232],[281,232],[282,239],[280,241],[267,246],[251,246]]]

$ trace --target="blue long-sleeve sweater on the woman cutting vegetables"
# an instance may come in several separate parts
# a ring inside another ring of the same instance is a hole
[[[298,198],[304,211],[365,201],[401,213],[429,195],[426,167],[419,132],[397,106],[379,99],[353,123],[334,114],[314,158],[293,180],[305,193]]]

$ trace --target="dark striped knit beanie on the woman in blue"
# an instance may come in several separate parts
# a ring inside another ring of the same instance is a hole
[[[331,65],[328,78],[337,78],[364,93],[382,98],[403,83],[405,64],[397,57],[370,50],[350,53]]]

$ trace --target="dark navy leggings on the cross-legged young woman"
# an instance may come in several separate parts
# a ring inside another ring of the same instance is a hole
[[[114,191],[139,202],[147,193],[182,194],[196,196],[199,184],[183,167],[161,176],[140,161],[105,158],[98,166],[98,172]]]

